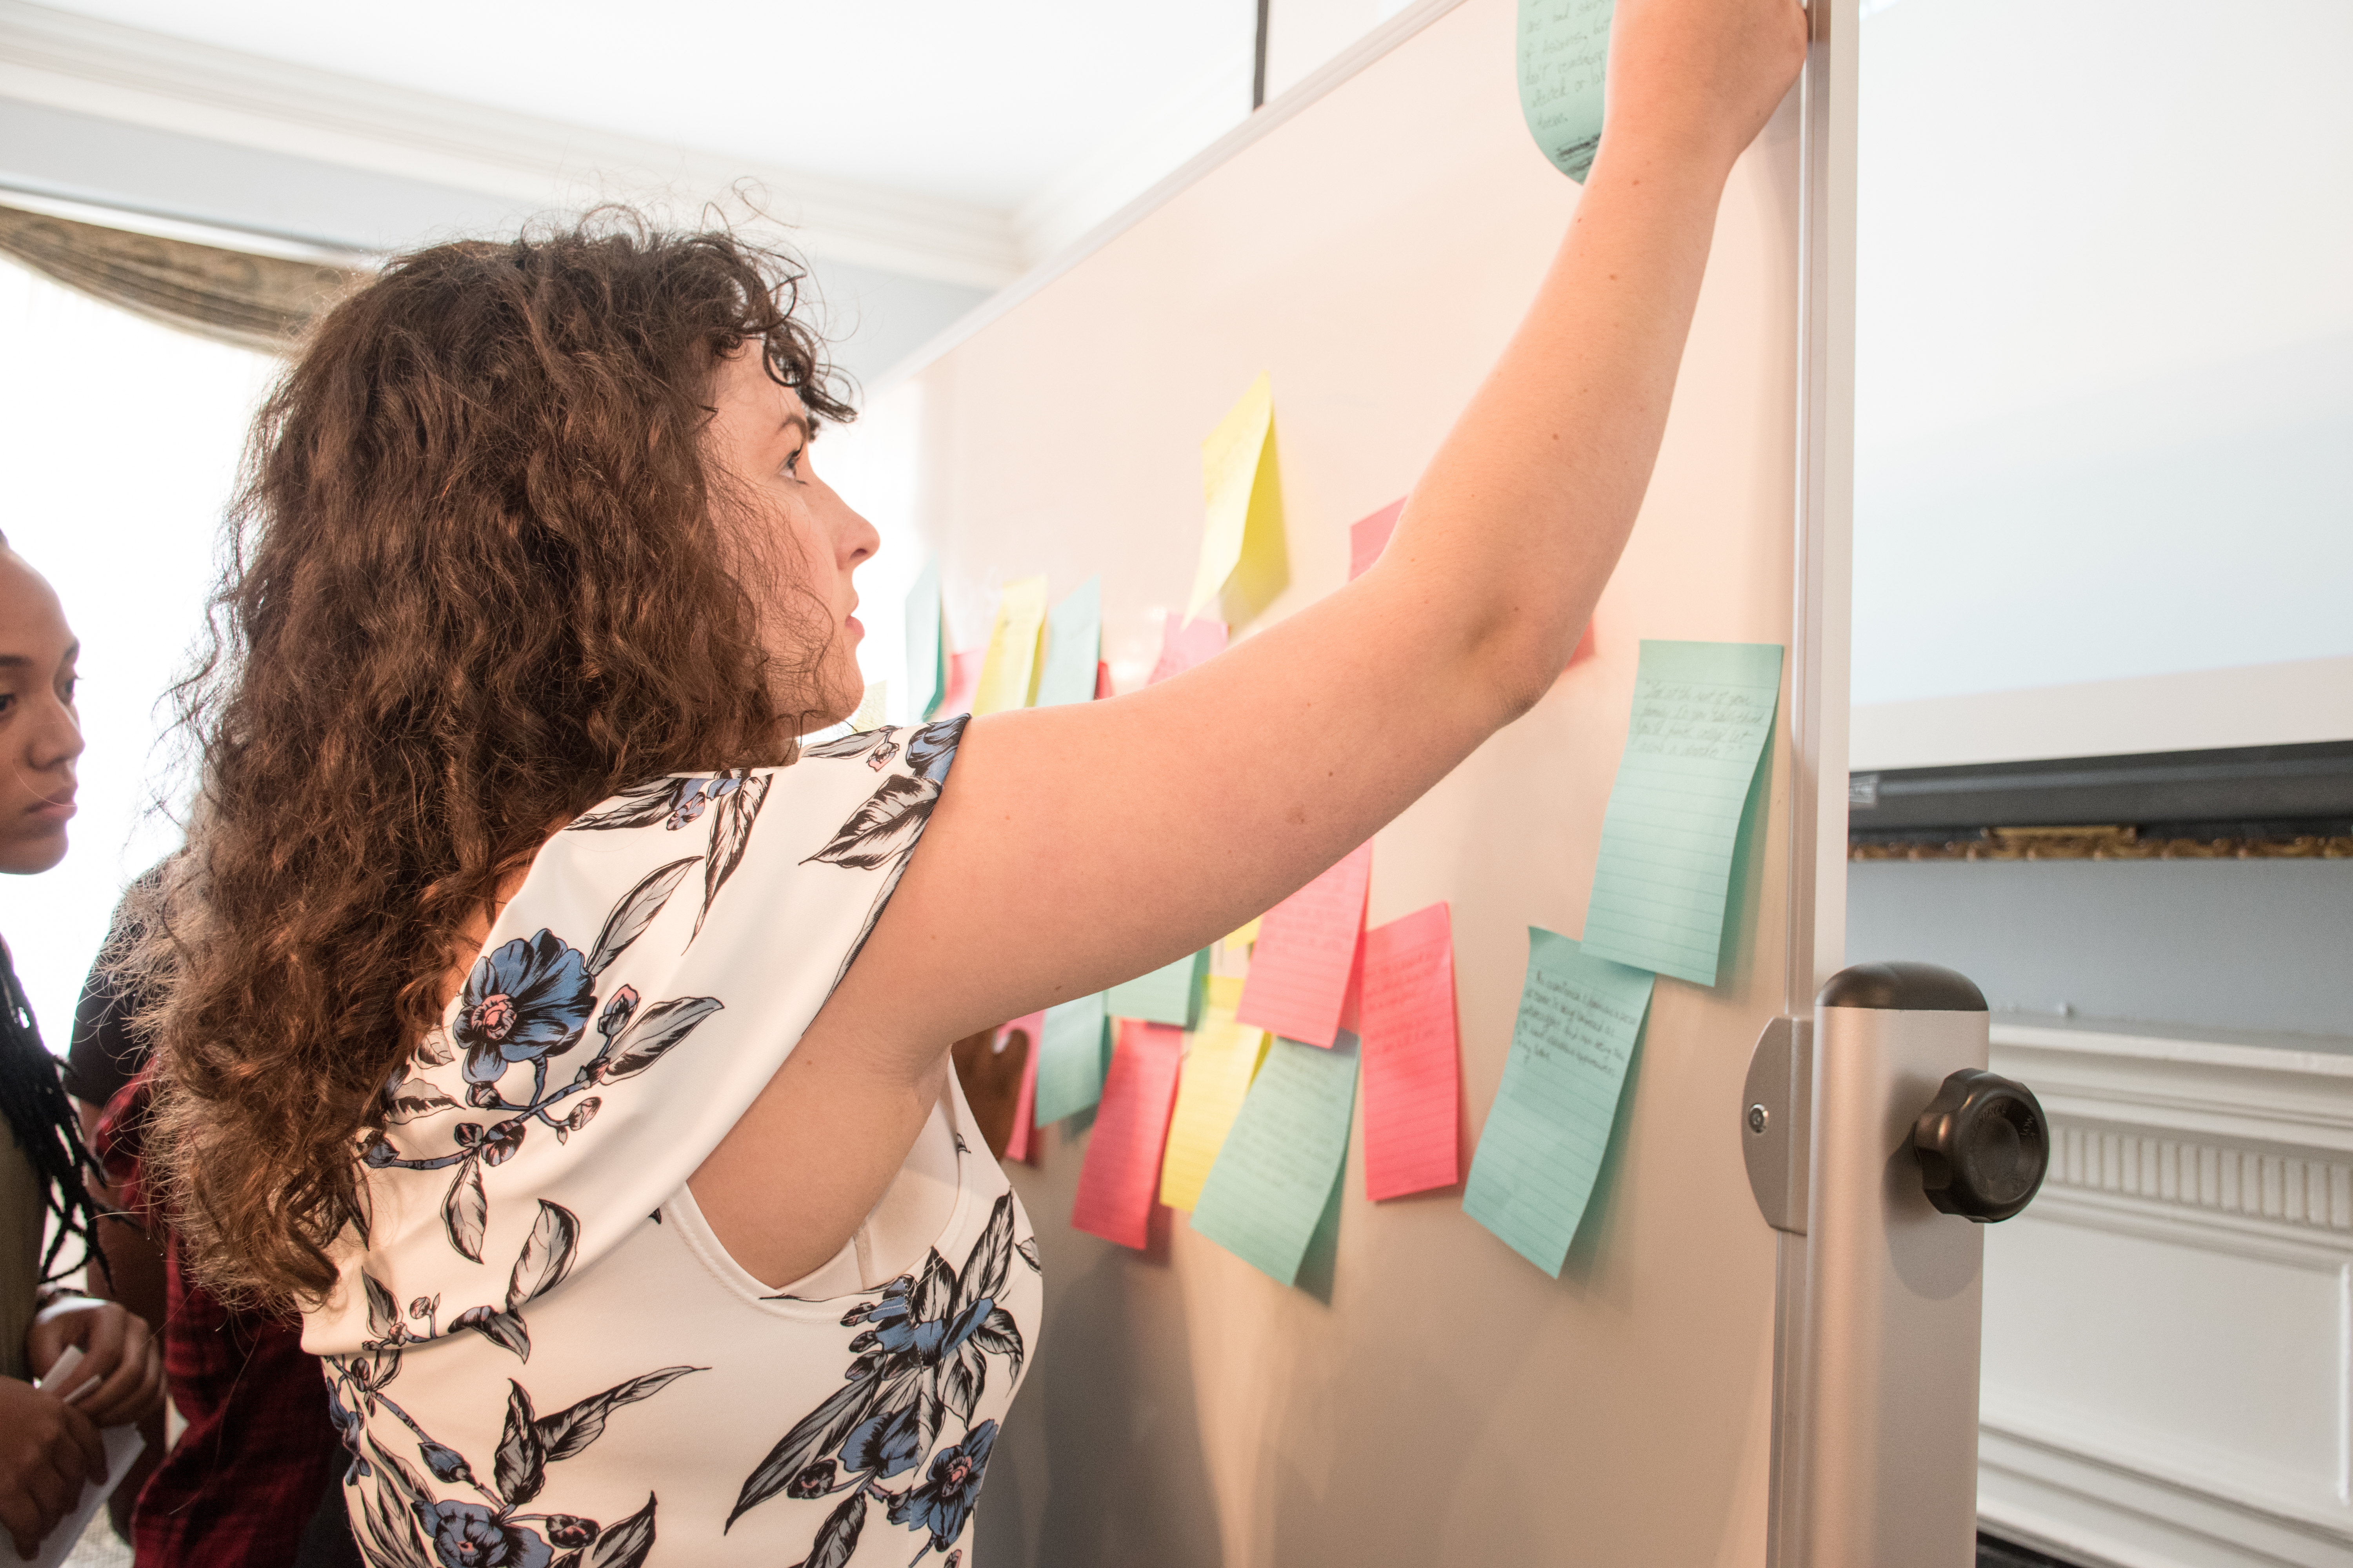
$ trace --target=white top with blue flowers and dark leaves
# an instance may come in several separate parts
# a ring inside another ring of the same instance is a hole
[[[856,959],[960,736],[659,778],[539,853],[386,1086],[367,1237],[304,1324],[374,1568],[969,1563],[1040,1309],[986,1147],[955,1133],[927,1258],[847,1295],[762,1286],[687,1192]]]

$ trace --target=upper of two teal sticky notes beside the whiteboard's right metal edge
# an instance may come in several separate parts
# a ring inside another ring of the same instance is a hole
[[[1732,849],[1781,696],[1774,642],[1645,642],[1584,950],[1715,985]]]

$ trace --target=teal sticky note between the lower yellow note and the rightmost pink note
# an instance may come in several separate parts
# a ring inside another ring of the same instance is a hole
[[[1353,1112],[1355,1034],[1329,1051],[1275,1037],[1193,1204],[1193,1229],[1294,1284],[1348,1164]]]

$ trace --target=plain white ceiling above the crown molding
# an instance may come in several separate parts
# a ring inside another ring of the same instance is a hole
[[[294,66],[1014,212],[1214,78],[1254,0],[47,0]],[[1238,110],[1245,106],[1235,106]]]

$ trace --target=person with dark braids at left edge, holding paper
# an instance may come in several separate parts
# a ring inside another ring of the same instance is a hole
[[[26,877],[66,858],[82,752],[78,654],[56,592],[0,536],[0,872]],[[104,1474],[99,1427],[162,1406],[162,1356],[118,1302],[49,1291],[89,1258],[106,1267],[92,1197],[104,1180],[5,940],[0,1117],[9,1133],[0,1145],[0,1528],[31,1559],[82,1481]],[[35,1387],[68,1345],[82,1352],[78,1387],[64,1396]]]

